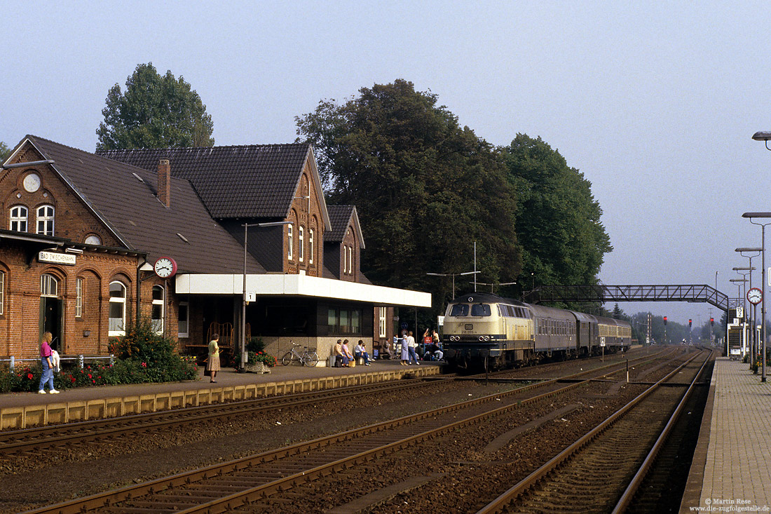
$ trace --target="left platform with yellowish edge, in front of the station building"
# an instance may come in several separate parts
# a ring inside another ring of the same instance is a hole
[[[247,400],[274,394],[322,391],[333,387],[401,380],[406,375],[428,377],[441,373],[443,363],[402,366],[399,360],[374,360],[371,366],[305,367],[300,364],[268,368],[270,373],[238,373],[233,368],[217,372],[211,384],[198,368],[200,380],[163,384],[123,384],[76,387],[59,394],[0,394],[0,430],[45,424],[163,411],[170,408]]]

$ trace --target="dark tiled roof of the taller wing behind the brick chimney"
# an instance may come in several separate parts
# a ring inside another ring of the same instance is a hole
[[[156,171],[169,159],[171,174],[193,183],[214,218],[286,218],[309,144],[254,144],[210,148],[110,150],[116,161]]]

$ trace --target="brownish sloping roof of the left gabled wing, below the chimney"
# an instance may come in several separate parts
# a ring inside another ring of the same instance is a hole
[[[243,246],[211,218],[187,180],[171,179],[171,205],[157,198],[157,173],[42,137],[25,138],[127,249],[177,261],[180,272],[240,273]],[[141,179],[141,180],[140,180]],[[187,241],[180,237],[183,235]],[[251,256],[247,271],[264,272]]]

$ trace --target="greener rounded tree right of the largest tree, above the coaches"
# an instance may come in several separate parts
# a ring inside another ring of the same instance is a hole
[[[519,203],[523,276],[532,273],[536,285],[595,284],[613,247],[591,182],[540,137],[517,134],[503,151]]]

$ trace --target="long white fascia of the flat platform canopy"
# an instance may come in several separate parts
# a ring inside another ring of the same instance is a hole
[[[409,289],[281,273],[247,275],[246,278],[247,295],[312,296],[382,306],[431,306],[431,293]],[[177,275],[174,289],[177,294],[241,296],[244,293],[244,276],[241,274],[180,274]]]

